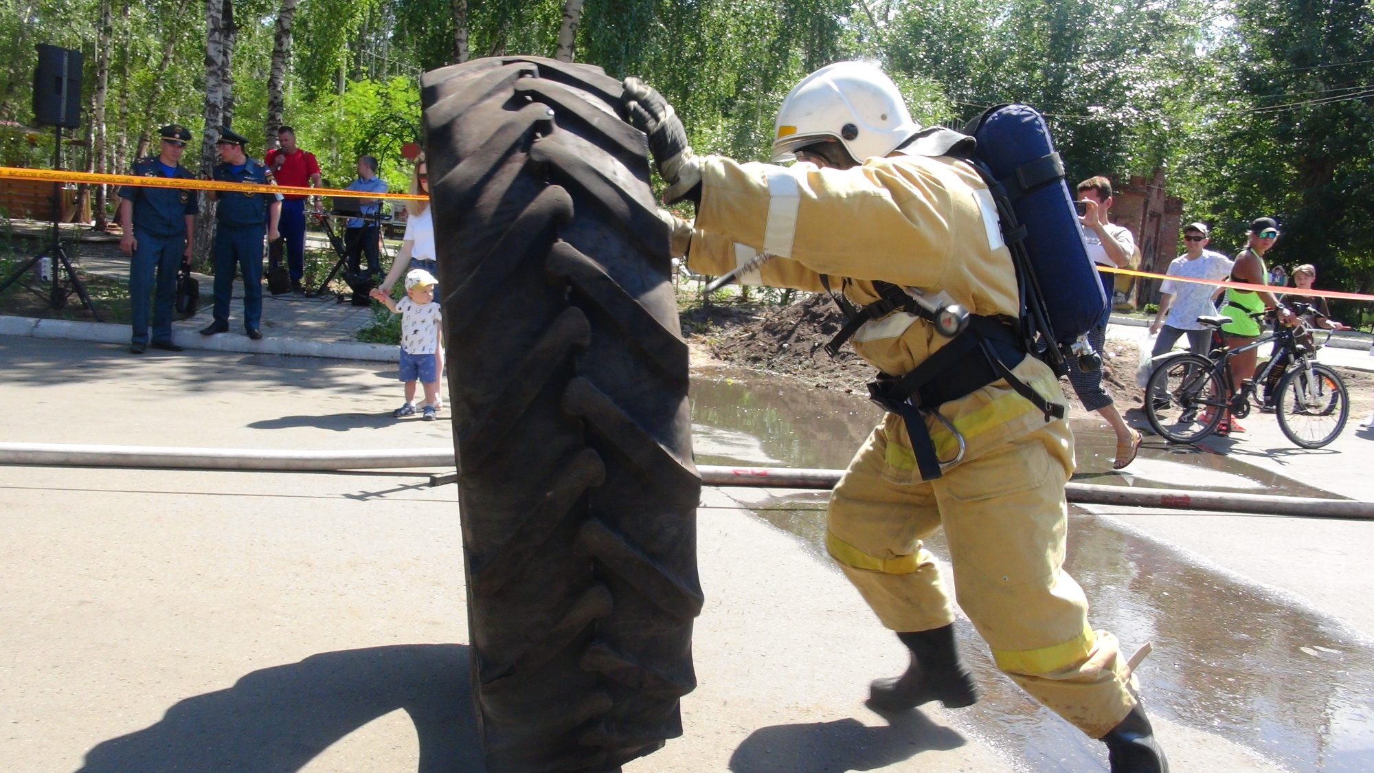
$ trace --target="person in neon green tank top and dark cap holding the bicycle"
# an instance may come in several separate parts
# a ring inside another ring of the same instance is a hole
[[[1270,252],[1270,248],[1274,246],[1278,238],[1279,227],[1272,217],[1256,217],[1250,223],[1250,231],[1246,234],[1248,243],[1245,249],[1235,256],[1235,265],[1231,267],[1231,279],[1248,285],[1267,285],[1268,271],[1264,268],[1264,253]],[[1279,320],[1283,325],[1292,325],[1294,319],[1293,312],[1283,308],[1278,298],[1274,297],[1274,293],[1227,287],[1226,300],[1227,303],[1221,305],[1220,311],[1231,318],[1230,325],[1221,326],[1221,338],[1226,341],[1227,349],[1245,347],[1254,342],[1254,338],[1259,337],[1260,323],[1250,319],[1250,312],[1257,314],[1268,308],[1278,308]],[[1254,360],[1257,355],[1259,349],[1249,349],[1231,358],[1231,389],[1239,389],[1242,381],[1254,378]],[[1227,415],[1221,420],[1220,426],[1217,426],[1217,435],[1230,435],[1231,432],[1245,432],[1245,428]]]

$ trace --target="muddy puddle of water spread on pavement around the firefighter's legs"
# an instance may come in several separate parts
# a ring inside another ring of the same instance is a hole
[[[789,466],[841,468],[881,417],[853,395],[757,374],[694,381],[692,399],[694,421],[732,439],[708,446],[709,455],[698,453],[703,464],[749,462],[731,454],[761,451]],[[1084,481],[1331,497],[1186,448],[1142,448],[1131,475],[1113,473],[1110,431],[1083,421],[1074,436],[1074,477]],[[758,517],[823,554],[826,492],[731,491],[736,494]],[[943,535],[927,547],[948,567]],[[1066,568],[1087,591],[1096,627],[1116,633],[1128,649],[1154,644],[1140,668],[1151,714],[1245,744],[1297,772],[1374,770],[1374,648],[1338,623],[1091,513],[1070,514]],[[985,690],[977,706],[949,714],[956,728],[1033,770],[1105,769],[1099,743],[999,675],[967,622],[956,629]]]

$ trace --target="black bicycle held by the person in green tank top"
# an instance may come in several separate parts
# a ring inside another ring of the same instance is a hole
[[[1300,316],[1315,314],[1308,304],[1290,304]],[[1261,319],[1265,312],[1252,314]],[[1230,316],[1200,316],[1200,323],[1220,329]],[[1318,344],[1312,330],[1304,325],[1283,327],[1274,323],[1274,331],[1235,349],[1215,349],[1210,356],[1194,353],[1175,355],[1150,374],[1145,388],[1145,415],[1150,426],[1171,443],[1197,443],[1216,432],[1227,411],[1237,418],[1250,413],[1254,385],[1265,384],[1270,371],[1287,360],[1287,371],[1279,378],[1274,395],[1274,414],[1279,429],[1303,448],[1320,448],[1336,440],[1351,413],[1349,391],[1345,381],[1330,367],[1316,362],[1316,351],[1331,338]],[[1246,378],[1232,395],[1231,358],[1259,348],[1270,341],[1287,353],[1278,353]]]

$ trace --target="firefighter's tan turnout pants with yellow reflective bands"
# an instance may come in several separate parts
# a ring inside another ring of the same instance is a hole
[[[886,627],[937,629],[954,611],[921,541],[944,527],[959,607],[998,668],[1088,736],[1106,734],[1135,706],[1135,684],[1116,637],[1088,626],[1083,589],[1062,569],[1073,469],[1066,424],[1046,424],[932,481],[912,468],[905,431],[889,414],[830,498],[831,557]]]

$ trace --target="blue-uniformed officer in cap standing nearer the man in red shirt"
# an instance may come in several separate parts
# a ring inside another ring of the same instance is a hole
[[[272,172],[260,161],[249,158],[243,147],[247,138],[220,127],[214,150],[220,162],[213,179],[228,183],[275,184]],[[225,333],[229,329],[229,296],[234,292],[235,268],[243,275],[243,327],[257,341],[262,337],[262,230],[276,239],[276,224],[282,216],[282,194],[209,191],[217,201],[214,210],[214,322],[201,330],[202,336]]]

